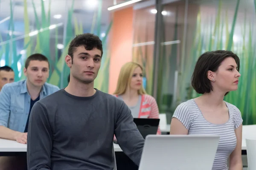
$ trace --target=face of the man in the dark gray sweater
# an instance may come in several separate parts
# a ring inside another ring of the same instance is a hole
[[[70,67],[70,75],[80,82],[89,84],[96,79],[101,65],[102,53],[99,49],[86,50],[83,45],[73,53],[73,63],[69,55],[65,60]]]

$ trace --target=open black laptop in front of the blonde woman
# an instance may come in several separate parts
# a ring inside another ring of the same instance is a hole
[[[147,135],[157,134],[159,122],[160,119],[134,118],[134,123],[137,125],[137,128],[144,139]]]

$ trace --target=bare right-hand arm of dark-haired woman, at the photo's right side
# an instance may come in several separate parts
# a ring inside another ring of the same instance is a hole
[[[229,170],[242,170],[242,125],[240,125],[236,130],[236,148],[230,154]]]

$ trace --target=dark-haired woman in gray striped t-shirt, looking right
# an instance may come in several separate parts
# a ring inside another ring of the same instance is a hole
[[[242,118],[224,96],[238,88],[239,57],[232,51],[202,54],[192,75],[192,87],[201,96],[181,103],[172,118],[170,134],[218,135],[212,170],[242,170]]]

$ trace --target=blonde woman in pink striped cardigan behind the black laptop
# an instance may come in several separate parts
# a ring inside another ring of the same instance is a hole
[[[134,118],[159,119],[157,102],[146,94],[142,82],[143,67],[136,62],[127,62],[121,68],[113,94],[128,105]],[[159,127],[157,134],[161,134]]]

